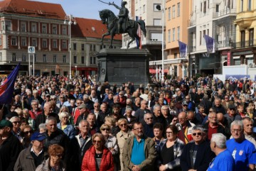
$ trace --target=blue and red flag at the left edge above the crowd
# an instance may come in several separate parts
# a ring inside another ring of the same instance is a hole
[[[18,69],[21,63],[14,68],[10,75],[0,85],[0,104],[10,104],[14,95],[14,83],[18,75]]]

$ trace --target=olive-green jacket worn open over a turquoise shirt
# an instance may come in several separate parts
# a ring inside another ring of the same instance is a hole
[[[144,151],[145,151],[145,158],[140,165],[139,168],[142,171],[154,171],[154,161],[156,159],[156,150],[154,148],[154,141],[151,138],[144,136],[145,144],[144,144]],[[124,163],[124,171],[132,170],[132,166],[134,163],[131,161],[132,157],[132,147],[134,142],[134,136],[131,136],[127,139],[124,143],[123,148],[123,155],[122,155],[122,162]]]

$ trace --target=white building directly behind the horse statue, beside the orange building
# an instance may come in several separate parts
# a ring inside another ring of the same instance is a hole
[[[161,60],[161,43],[162,43],[162,13],[156,9],[157,5],[161,6],[162,0],[127,0],[127,9],[129,10],[129,18],[136,20],[136,16],[145,21],[146,37],[141,33],[142,48],[146,48],[151,53],[152,60]],[[162,9],[162,6],[161,6]],[[129,35],[123,34],[122,47],[127,48]],[[130,48],[137,48],[134,41]]]

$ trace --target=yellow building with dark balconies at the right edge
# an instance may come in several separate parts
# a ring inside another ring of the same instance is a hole
[[[256,57],[256,1],[237,1],[236,38],[233,43],[230,65],[255,67]]]

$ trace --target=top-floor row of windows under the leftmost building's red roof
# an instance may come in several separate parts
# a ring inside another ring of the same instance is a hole
[[[67,26],[62,26],[61,29],[62,29],[61,34],[62,35],[67,35],[67,33],[68,33]],[[9,21],[9,20],[1,21],[1,30],[2,31],[11,31],[11,21]],[[22,31],[22,32],[27,31],[27,23],[25,21],[21,21],[20,31]],[[38,24],[37,23],[31,23],[30,32],[38,33]],[[51,34],[57,35],[58,34],[58,27],[57,27],[57,25],[53,25],[51,27],[51,31],[48,31],[47,24],[42,23],[41,24],[41,33],[51,33]]]

